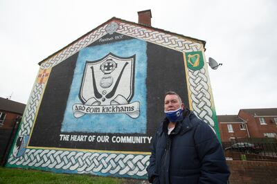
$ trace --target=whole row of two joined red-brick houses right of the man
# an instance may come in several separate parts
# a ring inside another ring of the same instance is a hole
[[[222,142],[236,138],[276,138],[277,108],[240,109],[238,115],[217,116]]]

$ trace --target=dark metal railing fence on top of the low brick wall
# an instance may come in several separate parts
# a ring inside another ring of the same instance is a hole
[[[277,142],[222,142],[230,160],[277,161]]]

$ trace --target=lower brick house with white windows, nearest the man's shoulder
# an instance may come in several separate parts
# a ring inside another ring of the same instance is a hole
[[[229,142],[236,138],[249,138],[246,123],[237,115],[217,116],[217,120],[222,142]]]

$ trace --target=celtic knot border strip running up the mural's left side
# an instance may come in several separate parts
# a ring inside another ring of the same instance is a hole
[[[43,89],[44,84],[35,84],[33,93],[30,95],[30,100],[26,106],[26,113],[22,120],[23,122],[19,130],[19,135],[30,135],[30,130],[35,120],[35,113],[37,112]]]

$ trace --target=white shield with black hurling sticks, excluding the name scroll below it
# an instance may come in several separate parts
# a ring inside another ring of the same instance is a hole
[[[84,66],[79,98],[83,104],[109,105],[115,98],[130,102],[134,95],[135,55],[119,57],[109,53]]]

